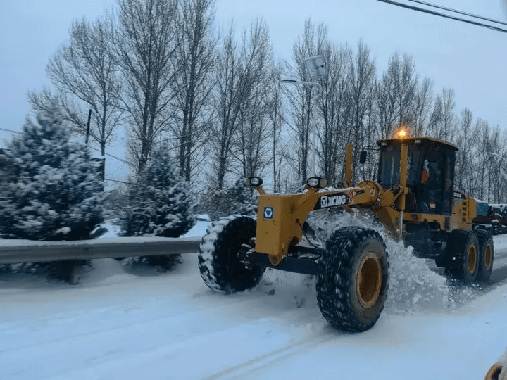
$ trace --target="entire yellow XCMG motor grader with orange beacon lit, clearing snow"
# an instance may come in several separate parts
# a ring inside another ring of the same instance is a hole
[[[214,222],[199,249],[199,270],[214,291],[256,286],[266,268],[317,277],[318,305],[332,326],[365,331],[380,317],[389,287],[389,261],[374,229],[342,227],[323,248],[301,244],[313,210],[371,210],[394,239],[420,258],[433,258],[451,277],[487,281],[494,246],[488,229],[475,229],[476,201],[454,186],[453,144],[432,137],[377,141],[377,180],[352,184],[353,151],[346,148],[345,179],[327,187],[311,177],[303,194],[267,194],[262,179],[246,179],[259,193],[257,219],[231,215]],[[366,160],[361,152],[360,163]]]

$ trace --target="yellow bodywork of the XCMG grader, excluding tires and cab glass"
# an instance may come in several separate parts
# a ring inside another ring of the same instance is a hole
[[[451,213],[423,213],[406,210],[406,197],[411,194],[407,180],[411,175],[411,170],[414,170],[409,167],[409,155],[413,154],[409,153],[409,146],[412,150],[414,146],[417,148],[418,141],[445,144],[447,148],[453,147],[452,144],[430,137],[380,140],[379,145],[401,145],[399,182],[385,189],[375,181],[363,181],[357,186],[352,186],[352,146],[350,144],[346,151],[346,177],[343,182],[349,187],[330,190],[309,188],[303,194],[287,195],[266,194],[262,187],[257,187],[260,196],[255,251],[269,255],[271,264],[279,265],[284,255],[289,253],[289,246],[294,246],[301,241],[303,224],[308,214],[313,210],[325,208],[368,208],[375,213],[392,236],[403,240],[406,237],[406,227],[414,224],[429,222],[438,225],[442,231],[449,232],[453,229],[472,229],[472,219],[476,216],[475,200],[459,191],[454,191]],[[430,204],[431,207],[434,205]]]

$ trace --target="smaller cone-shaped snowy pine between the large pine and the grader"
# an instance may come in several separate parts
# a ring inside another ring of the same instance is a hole
[[[194,227],[192,196],[166,144],[154,150],[129,198],[130,210],[122,222],[125,236],[178,237]]]

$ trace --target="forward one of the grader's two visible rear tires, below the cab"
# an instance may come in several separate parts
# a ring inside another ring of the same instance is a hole
[[[479,274],[480,248],[477,234],[469,229],[454,229],[446,244],[446,274],[471,284]],[[453,258],[456,258],[455,260]]]

